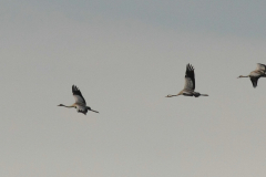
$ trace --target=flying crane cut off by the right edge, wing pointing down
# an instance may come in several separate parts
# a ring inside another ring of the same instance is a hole
[[[266,77],[266,65],[257,63],[257,69],[255,71],[250,72],[249,75],[238,76],[238,79],[241,79],[241,77],[249,77],[252,83],[253,83],[253,87],[256,87],[258,79],[259,77]]]

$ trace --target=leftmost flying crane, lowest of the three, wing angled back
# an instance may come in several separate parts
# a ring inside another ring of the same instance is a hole
[[[74,108],[76,108],[78,113],[83,113],[84,115],[86,115],[88,111],[92,111],[92,112],[99,113],[99,112],[96,112],[94,110],[91,110],[91,107],[86,106],[85,100],[82,96],[79,87],[76,87],[75,85],[72,85],[72,92],[73,92],[73,96],[74,96],[75,103],[70,105],[70,106],[65,106],[63,104],[60,104],[58,106],[64,106],[64,107],[69,107],[69,108],[74,107]]]

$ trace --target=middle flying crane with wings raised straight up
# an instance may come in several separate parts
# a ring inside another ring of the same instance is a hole
[[[194,92],[195,90],[195,74],[194,74],[194,67],[188,63],[186,65],[186,73],[185,73],[185,86],[184,88],[176,95],[167,95],[166,97],[173,97],[178,95],[184,96],[208,96],[207,94],[201,94],[198,92]]]

